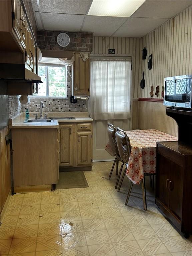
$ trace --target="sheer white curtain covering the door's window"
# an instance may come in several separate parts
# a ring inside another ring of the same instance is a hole
[[[95,120],[131,117],[131,60],[92,59],[90,116]]]

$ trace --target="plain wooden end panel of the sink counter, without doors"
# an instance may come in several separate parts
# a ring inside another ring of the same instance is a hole
[[[56,184],[57,128],[12,129],[14,187]]]

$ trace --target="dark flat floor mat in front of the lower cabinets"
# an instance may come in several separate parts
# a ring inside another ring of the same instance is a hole
[[[56,189],[89,187],[83,171],[59,172]]]

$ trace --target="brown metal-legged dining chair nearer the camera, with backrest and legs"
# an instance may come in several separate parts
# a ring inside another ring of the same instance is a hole
[[[117,142],[117,147],[118,147],[118,151],[119,151],[119,156],[121,158],[121,162],[123,163],[123,165],[126,166],[126,163],[128,163],[129,161],[129,157],[130,157],[130,153],[131,153],[131,143],[129,140],[129,137],[127,136],[126,132],[122,129],[120,129],[119,127],[117,127],[117,131],[116,131],[116,142]],[[117,178],[117,182],[115,185],[115,188],[117,188],[119,180],[120,180],[120,176],[121,176],[121,172],[123,169],[123,165],[121,166],[121,169],[119,171],[119,175]],[[118,192],[121,188],[121,185],[123,183],[123,179],[125,177],[126,174],[126,169],[127,167],[124,169],[119,187],[118,187]]]

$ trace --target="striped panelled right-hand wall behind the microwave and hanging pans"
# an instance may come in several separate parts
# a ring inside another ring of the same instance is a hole
[[[192,73],[191,7],[144,36],[140,42],[140,52],[144,46],[148,54],[146,60],[140,57],[139,77],[142,77],[144,71],[145,88],[140,88],[139,81],[138,98],[150,98],[151,86],[154,86],[153,98],[162,98],[161,91],[165,77]],[[153,67],[148,70],[147,62],[150,54],[152,54]],[[155,95],[157,85],[159,85],[158,97]],[[139,129],[158,129],[177,136],[177,124],[172,118],[167,117],[163,103],[139,101],[137,104],[139,104],[138,110],[135,107],[133,115],[137,115],[136,111],[138,111]]]

